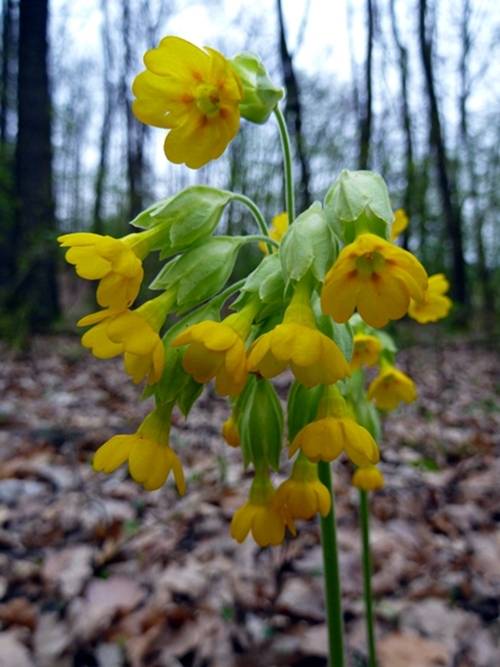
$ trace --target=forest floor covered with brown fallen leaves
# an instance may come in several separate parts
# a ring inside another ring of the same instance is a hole
[[[430,342],[431,341],[431,342]],[[188,492],[89,461],[148,405],[75,338],[0,350],[0,666],[326,665],[314,522],[283,547],[234,543],[249,477],[206,392],[173,428]],[[372,497],[380,667],[500,665],[500,359],[428,336],[400,355],[419,400],[385,424]],[[335,464],[350,666],[366,665],[357,495]]]

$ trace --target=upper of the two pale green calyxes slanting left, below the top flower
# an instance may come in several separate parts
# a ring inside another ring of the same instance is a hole
[[[168,236],[157,248],[162,257],[209,236],[219,224],[224,208],[233,193],[208,185],[186,188],[161,202],[153,204],[132,221],[136,227],[151,228],[164,224]]]

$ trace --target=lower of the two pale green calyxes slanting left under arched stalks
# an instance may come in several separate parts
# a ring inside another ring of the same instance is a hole
[[[226,284],[244,237],[217,236],[190,248],[169,262],[150,288],[177,288],[177,307],[191,308],[213,296]]]

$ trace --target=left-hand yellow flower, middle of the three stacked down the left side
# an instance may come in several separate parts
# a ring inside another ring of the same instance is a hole
[[[110,308],[92,313],[77,322],[92,326],[82,336],[82,345],[98,359],[123,354],[125,370],[135,383],[146,376],[148,384],[158,382],[165,363],[163,342],[158,335],[175,295],[164,292],[137,310],[115,311]]]

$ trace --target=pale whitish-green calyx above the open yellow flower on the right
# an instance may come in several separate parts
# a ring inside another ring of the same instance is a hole
[[[344,169],[326,193],[325,213],[344,243],[363,232],[388,239],[394,219],[384,179],[373,171]]]

